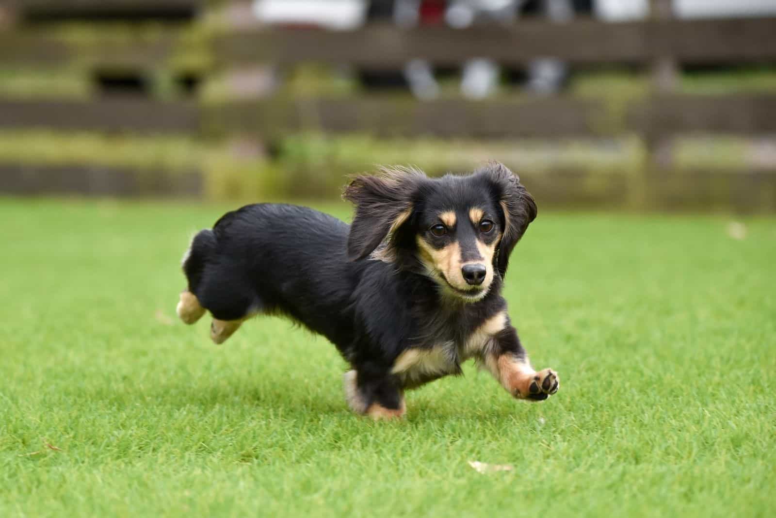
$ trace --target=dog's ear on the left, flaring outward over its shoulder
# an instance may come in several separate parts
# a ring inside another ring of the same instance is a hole
[[[382,169],[379,174],[354,178],[342,197],[355,205],[348,236],[348,258],[363,259],[377,247],[380,258],[392,257],[391,238],[412,214],[417,184],[425,175],[414,169]]]

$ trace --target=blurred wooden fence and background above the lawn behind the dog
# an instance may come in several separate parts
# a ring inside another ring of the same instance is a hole
[[[776,0],[0,0],[0,195],[776,211]]]

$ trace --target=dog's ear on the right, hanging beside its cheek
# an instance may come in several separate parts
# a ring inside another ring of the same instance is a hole
[[[479,172],[487,176],[494,197],[504,212],[504,237],[501,238],[496,257],[496,268],[501,278],[504,278],[514,245],[523,237],[528,223],[536,218],[536,203],[521,185],[518,175],[504,164],[490,162]]]

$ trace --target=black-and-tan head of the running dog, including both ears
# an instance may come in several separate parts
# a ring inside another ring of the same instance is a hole
[[[536,205],[497,162],[457,176],[384,169],[345,188],[355,204],[348,257],[372,257],[400,268],[421,264],[442,291],[467,302],[482,299],[536,217]]]

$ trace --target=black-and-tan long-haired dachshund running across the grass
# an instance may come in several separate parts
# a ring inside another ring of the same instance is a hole
[[[404,414],[404,390],[461,374],[475,358],[518,399],[559,378],[535,371],[501,285],[536,205],[507,167],[427,178],[411,169],[355,178],[351,226],[295,205],[248,205],[203,230],[185,254],[183,322],[213,315],[227,340],[251,316],[285,315],[331,340],[350,364],[348,405]]]

